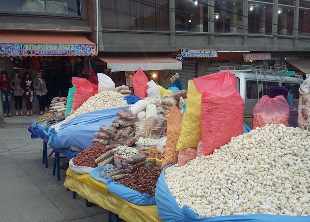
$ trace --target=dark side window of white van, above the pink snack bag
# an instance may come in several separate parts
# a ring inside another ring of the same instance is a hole
[[[265,95],[270,87],[279,86],[278,82],[266,82],[263,81],[247,81],[247,97],[249,99],[258,99]]]

